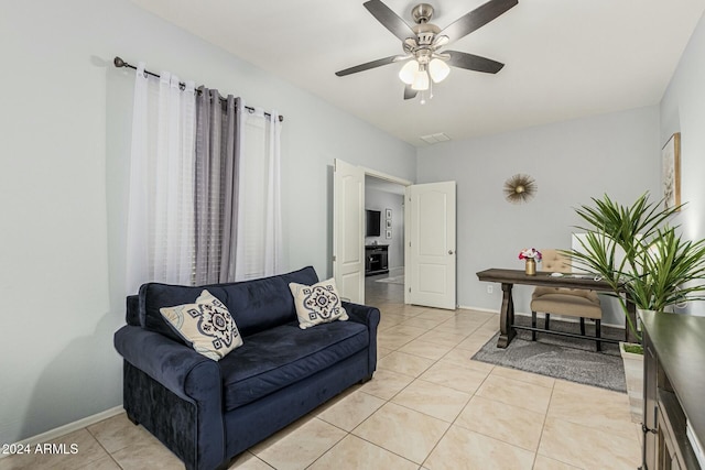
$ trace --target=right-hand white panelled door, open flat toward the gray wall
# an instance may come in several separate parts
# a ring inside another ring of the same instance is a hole
[[[406,303],[455,309],[455,182],[408,186],[406,208]]]

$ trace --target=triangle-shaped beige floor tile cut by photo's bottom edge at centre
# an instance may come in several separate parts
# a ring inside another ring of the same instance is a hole
[[[310,470],[416,470],[419,466],[359,437],[348,435],[316,460]]]

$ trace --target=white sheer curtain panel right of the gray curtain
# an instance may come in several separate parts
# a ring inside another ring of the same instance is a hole
[[[245,107],[245,103],[242,103]],[[281,223],[281,122],[262,109],[240,113],[237,281],[280,274],[283,266]]]

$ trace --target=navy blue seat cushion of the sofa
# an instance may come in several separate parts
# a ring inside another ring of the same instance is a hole
[[[302,330],[296,321],[245,339],[220,362],[226,411],[306,379],[365,349],[369,332],[355,321]]]

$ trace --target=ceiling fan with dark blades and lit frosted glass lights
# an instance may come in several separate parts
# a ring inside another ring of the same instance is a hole
[[[381,0],[369,0],[364,3],[364,7],[372,13],[377,21],[402,41],[404,54],[356,65],[336,72],[335,75],[344,77],[382,65],[406,61],[406,64],[399,72],[399,78],[405,84],[404,99],[415,98],[421,91],[421,103],[423,105],[425,91],[431,88],[432,83],[442,81],[451,73],[448,66],[487,74],[496,74],[501,70],[505,64],[497,61],[458,51],[442,52],[441,50],[478,30],[518,3],[519,0],[490,0],[441,30],[430,23],[433,17],[433,7],[429,3],[420,3],[411,10],[415,24],[410,26]]]

